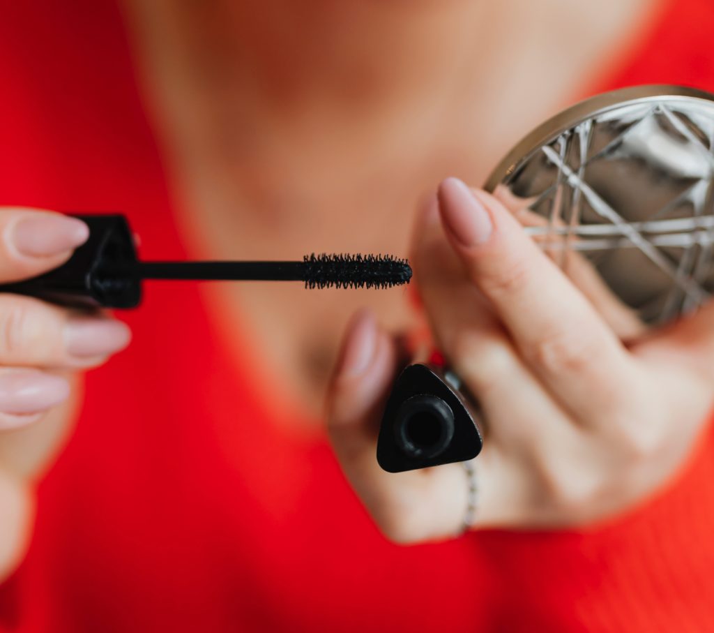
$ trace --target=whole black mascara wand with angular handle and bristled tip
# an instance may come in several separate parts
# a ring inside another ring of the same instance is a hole
[[[133,308],[144,279],[302,281],[306,288],[389,288],[408,284],[406,259],[389,255],[307,255],[303,261],[139,261],[126,218],[75,216],[89,239],[65,264],[0,292],[77,307]]]

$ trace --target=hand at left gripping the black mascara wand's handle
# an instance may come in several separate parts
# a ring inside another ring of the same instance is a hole
[[[60,266],[88,236],[79,219],[0,207],[0,284]],[[0,581],[29,539],[34,479],[76,414],[77,374],[130,339],[129,328],[106,314],[0,292]]]

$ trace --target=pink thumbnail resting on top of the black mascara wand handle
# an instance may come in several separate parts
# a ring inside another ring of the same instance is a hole
[[[21,219],[11,229],[15,248],[29,257],[59,255],[76,248],[89,237],[89,226],[77,218],[39,213]]]

